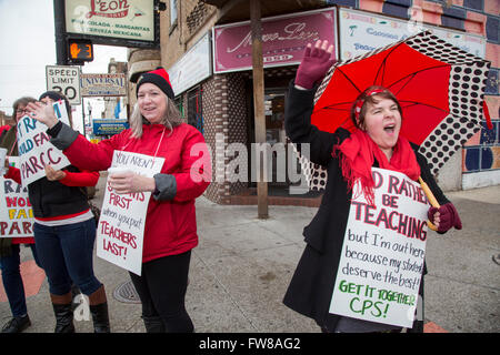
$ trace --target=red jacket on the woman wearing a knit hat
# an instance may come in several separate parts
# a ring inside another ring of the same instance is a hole
[[[140,139],[130,138],[124,130],[98,144],[81,134],[63,150],[70,162],[83,170],[107,170],[114,150],[164,158],[161,174],[176,179],[173,199],[148,204],[144,223],[142,262],[177,255],[198,245],[194,199],[210,184],[211,162],[203,135],[192,125],[182,123],[169,131],[161,124],[143,124]],[[163,133],[164,132],[164,133]],[[196,169],[202,179],[193,179]]]

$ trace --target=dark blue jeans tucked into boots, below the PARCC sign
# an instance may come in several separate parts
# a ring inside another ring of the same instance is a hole
[[[64,295],[74,283],[86,295],[91,295],[101,283],[93,274],[92,251],[96,241],[96,221],[46,226],[33,224],[34,243],[40,263],[53,295]]]

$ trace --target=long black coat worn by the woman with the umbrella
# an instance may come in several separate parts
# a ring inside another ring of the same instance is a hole
[[[334,329],[340,316],[329,313],[346,226],[349,217],[351,192],[342,176],[339,159],[332,156],[333,145],[341,143],[350,133],[339,129],[336,133],[319,131],[311,125],[310,118],[316,90],[298,90],[290,83],[284,111],[284,128],[293,143],[310,143],[310,160],[324,166],[328,180],[318,213],[303,230],[306,250],[284,295],[283,303],[321,327]],[[300,144],[298,144],[300,150]],[[449,202],[436,184],[426,159],[417,153],[426,181],[440,204]],[[373,166],[378,166],[376,161]],[[422,277],[423,278],[423,277]],[[423,280],[419,293],[423,300]],[[422,324],[414,324],[413,328]]]

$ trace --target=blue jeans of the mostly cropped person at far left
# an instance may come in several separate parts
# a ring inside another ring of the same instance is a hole
[[[37,257],[37,250],[34,244],[29,244],[33,254],[34,262],[38,266],[40,263]],[[9,300],[10,311],[12,316],[20,317],[28,313],[26,307],[24,286],[22,285],[21,277],[21,258],[20,258],[20,245],[12,244],[12,253],[9,256],[0,257],[0,268],[2,271],[3,288],[6,288],[7,298]],[[41,267],[41,266],[40,266]]]

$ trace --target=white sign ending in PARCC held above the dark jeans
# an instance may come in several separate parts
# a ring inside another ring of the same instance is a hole
[[[58,120],[70,124],[62,101],[53,103],[53,111]],[[44,165],[51,165],[54,170],[60,170],[70,164],[62,151],[50,143],[50,138],[46,131],[47,125],[29,115],[24,115],[18,122],[18,146],[21,158],[19,169],[21,170],[23,186],[46,176]]]

